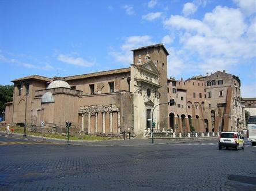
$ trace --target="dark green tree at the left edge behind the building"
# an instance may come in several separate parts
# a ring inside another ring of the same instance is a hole
[[[0,114],[5,110],[5,103],[13,101],[13,85],[0,85]]]

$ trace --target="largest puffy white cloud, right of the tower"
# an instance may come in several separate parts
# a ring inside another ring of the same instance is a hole
[[[170,56],[171,66],[174,63],[172,75],[179,73],[175,70],[180,70],[183,63],[190,73],[232,71],[234,66],[249,63],[250,59],[255,64],[255,18],[246,19],[240,9],[216,6],[202,20],[170,16],[163,25],[179,38],[177,48],[173,47],[174,57]]]

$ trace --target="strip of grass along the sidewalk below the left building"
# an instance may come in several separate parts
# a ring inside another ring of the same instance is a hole
[[[0,131],[6,131],[6,127],[0,127]],[[23,127],[14,127],[14,133],[23,133]],[[56,139],[64,139],[66,140],[66,135],[58,135],[58,134],[48,134],[48,133],[39,133],[39,132],[30,132],[27,131],[27,135],[35,135],[35,136],[43,136],[43,137],[51,137]],[[79,135],[74,136],[70,135],[69,140],[112,140],[112,139],[120,139],[120,137],[107,137],[107,136],[97,136],[97,135]]]

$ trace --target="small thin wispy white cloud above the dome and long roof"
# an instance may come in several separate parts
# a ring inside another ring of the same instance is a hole
[[[59,54],[57,59],[61,62],[67,63],[67,64],[84,66],[84,67],[90,67],[95,64],[95,62],[89,62],[88,60],[85,60],[81,57],[74,58],[73,56],[63,55],[63,54]]]

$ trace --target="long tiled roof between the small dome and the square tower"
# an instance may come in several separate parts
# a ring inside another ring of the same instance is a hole
[[[101,75],[111,75],[111,74],[120,74],[125,72],[130,72],[130,68],[121,68],[116,70],[108,70],[108,71],[101,71],[95,72],[91,74],[82,74],[82,75],[73,75],[70,77],[65,77],[66,81],[74,80],[74,79],[84,79],[84,78],[91,78],[91,77],[99,77]]]

